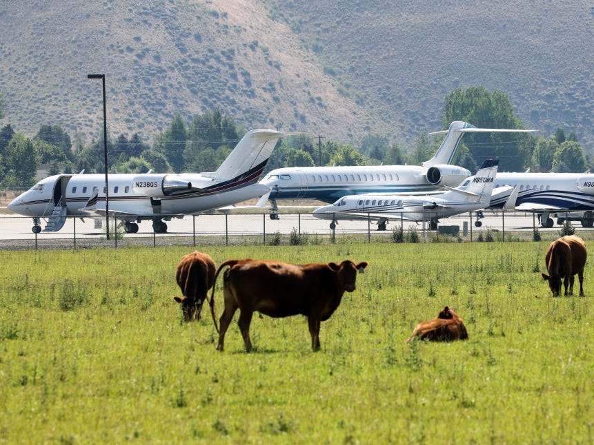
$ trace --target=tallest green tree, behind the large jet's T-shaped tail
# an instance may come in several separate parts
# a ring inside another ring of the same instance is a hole
[[[523,128],[507,95],[501,91],[488,92],[484,87],[457,89],[446,96],[444,128],[453,121],[465,121],[484,128]],[[476,165],[487,158],[499,158],[500,169],[513,172],[523,169],[530,161],[531,149],[526,135],[474,133],[466,134],[464,141]]]

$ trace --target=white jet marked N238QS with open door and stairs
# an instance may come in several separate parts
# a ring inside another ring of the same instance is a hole
[[[106,214],[136,233],[142,220],[152,220],[156,233],[167,231],[164,220],[183,218],[218,207],[258,198],[270,191],[258,178],[283,134],[251,130],[214,173],[109,174],[106,203],[105,174],[57,174],[42,179],[8,205],[10,211],[32,216],[32,231],[58,231],[67,216]],[[106,205],[107,204],[107,205]]]

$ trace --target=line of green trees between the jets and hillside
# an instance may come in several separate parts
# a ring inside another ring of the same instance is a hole
[[[3,119],[0,94],[0,120]],[[524,128],[513,114],[506,94],[484,87],[458,89],[444,101],[442,123],[447,129],[453,121],[476,127]],[[175,114],[169,127],[152,143],[140,134],[108,134],[110,173],[214,172],[235,147],[246,130],[219,110],[197,114],[191,123]],[[275,148],[267,170],[279,167],[316,165],[419,165],[427,161],[444,136],[430,140],[419,134],[413,147],[404,149],[379,134],[367,134],[358,146],[339,143],[311,134],[285,136]],[[456,165],[475,172],[485,158],[498,158],[501,171],[584,172],[590,159],[574,132],[558,129],[551,136],[536,134],[477,133],[464,136],[454,160]],[[77,136],[74,143],[59,125],[41,125],[32,138],[15,132],[10,124],[0,129],[0,185],[30,187],[40,165],[48,174],[103,173],[103,135],[84,145]]]

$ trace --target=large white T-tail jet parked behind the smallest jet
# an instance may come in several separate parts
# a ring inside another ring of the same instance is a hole
[[[270,194],[262,196],[258,205],[266,206],[270,200],[277,219],[277,200],[315,199],[333,203],[347,195],[366,193],[429,193],[444,187],[457,187],[471,172],[451,165],[462,136],[466,133],[535,132],[535,130],[508,130],[502,128],[477,128],[469,123],[455,121],[435,156],[422,165],[370,165],[351,167],[285,167],[272,170],[261,184],[270,187]]]

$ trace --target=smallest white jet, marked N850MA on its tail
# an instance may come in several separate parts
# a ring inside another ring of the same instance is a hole
[[[319,207],[313,216],[331,220],[330,229],[338,220],[377,220],[378,230],[385,230],[390,219],[404,218],[428,221],[437,228],[439,218],[488,207],[493,193],[499,161],[487,159],[468,184],[433,195],[359,194],[343,196],[332,205]],[[466,181],[465,181],[466,182]]]

